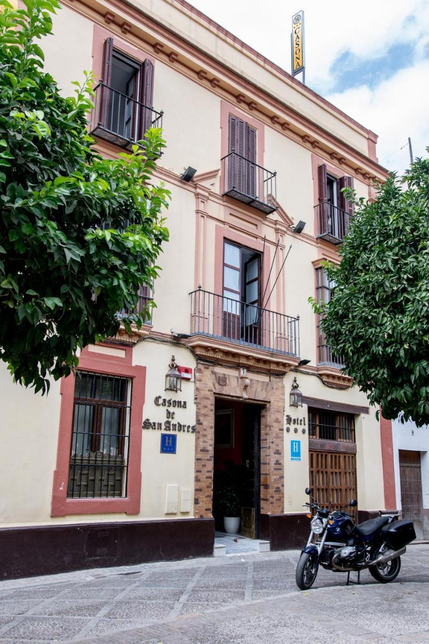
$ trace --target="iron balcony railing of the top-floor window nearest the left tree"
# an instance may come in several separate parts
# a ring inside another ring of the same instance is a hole
[[[157,112],[102,82],[94,91],[91,135],[131,150],[149,128],[162,128],[162,111]]]

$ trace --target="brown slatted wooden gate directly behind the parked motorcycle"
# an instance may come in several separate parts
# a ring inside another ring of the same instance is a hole
[[[351,498],[357,499],[356,454],[311,451],[310,488],[321,507],[339,510]],[[348,509],[357,517],[357,508]]]

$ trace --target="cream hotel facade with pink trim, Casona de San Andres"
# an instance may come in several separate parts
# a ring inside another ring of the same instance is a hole
[[[329,301],[341,188],[373,198],[386,177],[376,135],[184,0],[62,4],[46,70],[64,93],[100,79],[88,127],[108,158],[162,126],[170,241],[141,330],[86,347],[48,397],[1,371],[5,576],[212,554],[231,472],[243,534],[272,549],[307,535],[309,484],[360,519],[385,509],[376,409],[308,303]]]

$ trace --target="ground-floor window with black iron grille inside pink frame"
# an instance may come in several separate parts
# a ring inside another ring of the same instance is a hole
[[[131,380],[77,371],[68,498],[126,497]]]

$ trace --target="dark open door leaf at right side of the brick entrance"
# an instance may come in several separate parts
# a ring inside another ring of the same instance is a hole
[[[260,515],[260,408],[243,408],[242,535],[258,538]]]

